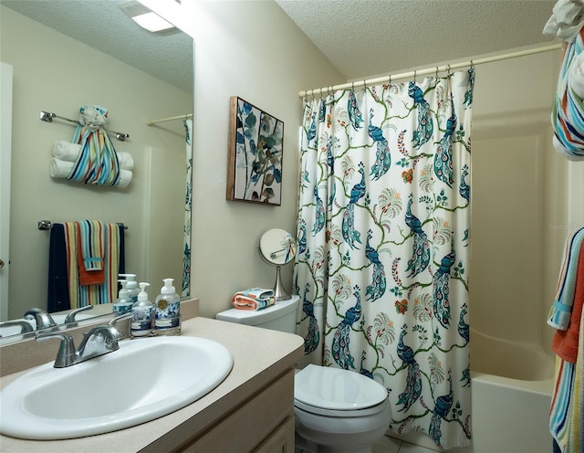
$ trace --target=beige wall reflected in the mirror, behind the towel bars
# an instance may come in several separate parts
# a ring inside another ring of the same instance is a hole
[[[26,309],[47,303],[48,232],[38,231],[36,221],[53,222],[98,218],[123,222],[127,232],[127,271],[138,279],[151,280],[151,295],[162,287],[162,278],[182,276],[183,215],[177,222],[177,258],[159,258],[165,253],[161,240],[148,239],[144,228],[149,213],[151,167],[178,162],[183,171],[184,134],[181,124],[153,128],[146,121],[192,111],[192,95],[126,65],[115,58],[80,44],[42,26],[5,6],[1,7],[0,58],[14,68],[12,137],[11,265],[9,318],[22,317]],[[135,163],[127,189],[94,187],[52,179],[48,174],[53,142],[73,137],[68,122],[39,121],[39,111],[53,111],[71,119],[78,108],[98,104],[109,109],[110,129],[130,133],[130,140],[114,146],[128,152]],[[177,121],[180,122],[180,121]],[[178,129],[176,129],[178,127]],[[172,132],[169,132],[171,130]],[[163,157],[162,157],[163,156]],[[177,168],[174,164],[173,167]],[[156,177],[158,200],[183,204],[184,184],[171,189],[169,174]],[[166,182],[162,183],[162,179]],[[166,190],[163,194],[161,191]],[[167,222],[166,218],[158,220]],[[169,235],[171,236],[171,235]],[[176,235],[172,235],[176,236]],[[148,269],[146,259],[162,265]],[[171,274],[171,275],[169,275]]]

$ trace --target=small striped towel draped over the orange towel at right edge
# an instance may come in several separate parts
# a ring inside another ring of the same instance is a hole
[[[564,257],[559,271],[558,287],[554,296],[554,303],[547,315],[547,324],[560,331],[568,329],[570,313],[574,303],[578,260],[583,241],[584,227],[573,231],[566,239]]]

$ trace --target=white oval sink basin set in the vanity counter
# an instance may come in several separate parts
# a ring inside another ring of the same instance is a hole
[[[6,385],[0,432],[64,439],[133,427],[208,394],[232,366],[231,353],[204,338],[126,340],[113,353],[68,368],[46,363]]]

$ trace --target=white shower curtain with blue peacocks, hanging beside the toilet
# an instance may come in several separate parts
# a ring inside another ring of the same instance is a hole
[[[307,361],[387,388],[391,430],[470,443],[474,68],[304,100],[294,284]]]

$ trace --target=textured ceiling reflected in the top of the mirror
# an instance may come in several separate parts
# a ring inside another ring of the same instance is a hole
[[[181,90],[193,91],[193,38],[155,35],[136,25],[118,0],[0,0],[90,47],[118,58]]]

